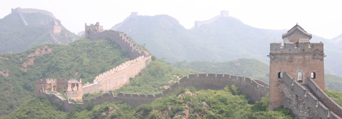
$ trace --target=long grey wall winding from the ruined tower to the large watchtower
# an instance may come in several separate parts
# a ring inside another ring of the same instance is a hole
[[[106,93],[101,96],[92,99],[83,100],[83,104],[80,103],[71,103],[66,99],[58,98],[58,100],[64,101],[62,108],[64,111],[70,111],[70,108],[75,108],[76,105],[80,104],[82,106],[86,106],[88,103],[93,102],[94,104],[102,104],[105,101],[113,102],[113,101],[122,101],[133,107],[137,107],[141,104],[148,104],[154,101],[157,98],[162,96],[167,96],[170,93],[174,92],[176,89],[180,87],[195,87],[197,90],[202,89],[213,89],[213,90],[222,90],[226,85],[232,86],[235,85],[239,88],[241,94],[245,94],[249,96],[252,102],[260,101],[261,97],[267,95],[269,91],[268,85],[261,80],[254,80],[248,77],[241,77],[230,74],[190,74],[189,77],[183,77],[179,83],[175,83],[171,88],[164,90],[159,94],[126,94],[122,92],[118,92],[117,96],[114,96],[113,93]],[[43,93],[45,95],[51,95],[47,93]],[[50,101],[54,101],[58,96],[48,96]]]

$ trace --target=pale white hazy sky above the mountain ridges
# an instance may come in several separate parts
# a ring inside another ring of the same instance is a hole
[[[305,31],[324,38],[342,33],[341,0],[4,0],[1,3],[1,18],[11,13],[11,7],[47,10],[75,33],[84,31],[85,22],[100,22],[104,29],[110,29],[131,12],[148,16],[167,14],[190,29],[194,21],[208,20],[221,10],[256,28],[290,29],[298,22]]]

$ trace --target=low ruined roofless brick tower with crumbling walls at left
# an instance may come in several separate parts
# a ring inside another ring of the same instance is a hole
[[[57,91],[61,89],[66,91],[64,95],[74,100],[82,100],[82,81],[81,79],[38,79],[36,80],[35,96],[42,94],[44,90]]]

